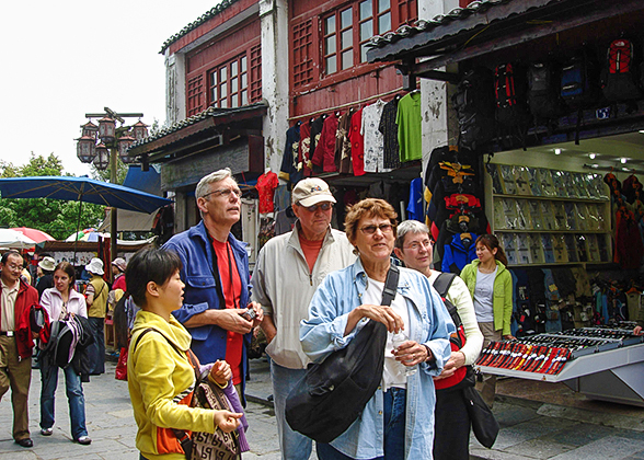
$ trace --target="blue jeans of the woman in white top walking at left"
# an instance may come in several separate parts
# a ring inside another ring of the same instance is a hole
[[[41,363],[41,428],[51,428],[54,426],[54,398],[56,387],[58,387],[58,369],[56,365],[43,359]],[[69,418],[71,419],[71,437],[78,439],[81,436],[88,436],[85,427],[85,396],[80,376],[69,365],[64,370],[65,387],[67,390],[67,400],[69,402]]]

